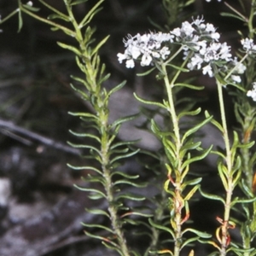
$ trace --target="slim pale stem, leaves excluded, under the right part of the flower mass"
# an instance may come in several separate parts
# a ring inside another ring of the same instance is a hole
[[[224,176],[227,177],[227,188],[226,188],[226,199],[224,204],[224,219],[222,224],[222,240],[221,240],[221,251],[220,255],[225,256],[226,255],[226,249],[228,247],[228,240],[229,240],[229,221],[230,221],[230,203],[232,200],[232,194],[233,194],[233,176],[232,176],[232,154],[230,149],[230,139],[228,135],[228,127],[226,122],[226,115],[224,110],[224,96],[223,96],[223,86],[222,84],[217,80],[218,85],[218,101],[219,101],[219,108],[220,108],[220,114],[221,114],[221,120],[222,120],[222,127],[223,127],[223,137],[224,137],[224,144],[225,144],[225,150],[226,150],[226,156],[225,156],[225,163],[226,163],[226,170],[222,170],[224,173]]]

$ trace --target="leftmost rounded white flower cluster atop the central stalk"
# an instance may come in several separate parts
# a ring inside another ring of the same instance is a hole
[[[171,54],[170,49],[166,46],[162,46],[162,43],[171,42],[173,36],[169,33],[148,33],[140,35],[139,33],[135,37],[129,35],[124,41],[125,53],[118,54],[119,62],[126,60],[126,67],[134,67],[134,60],[141,58],[142,66],[149,66],[153,59],[163,59]]]

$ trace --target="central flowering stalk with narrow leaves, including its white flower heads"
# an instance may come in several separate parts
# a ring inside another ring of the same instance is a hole
[[[201,121],[201,123],[190,128],[188,131],[180,131],[180,122],[183,116],[195,116],[201,112],[201,108],[191,111],[181,111],[177,113],[176,102],[174,101],[174,94],[176,94],[177,86],[181,88],[187,87],[192,90],[200,90],[200,87],[196,87],[191,84],[177,83],[177,78],[182,72],[188,72],[185,68],[187,65],[189,69],[195,67],[201,67],[204,59],[210,62],[212,59],[212,50],[218,50],[220,57],[229,58],[229,48],[226,44],[214,44],[212,49],[207,49],[207,40],[212,42],[218,40],[219,34],[211,24],[204,24],[204,20],[196,19],[192,23],[188,21],[183,22],[180,28],[175,28],[169,33],[148,33],[144,35],[137,34],[135,37],[128,36],[125,41],[125,52],[124,54],[118,54],[119,62],[125,61],[126,67],[134,67],[135,61],[140,61],[142,66],[153,65],[159,70],[158,77],[163,79],[165,83],[165,89],[167,93],[167,100],[160,102],[148,102],[137,97],[137,100],[146,104],[156,105],[164,109],[171,119],[172,131],[170,128],[167,131],[161,131],[160,127],[152,119],[151,127],[154,134],[160,138],[163,143],[166,159],[167,169],[167,180],[164,185],[166,193],[172,195],[169,199],[171,206],[169,207],[171,215],[171,226],[172,229],[168,229],[174,240],[173,252],[168,249],[158,251],[158,253],[170,253],[174,256],[178,256],[181,253],[184,244],[195,241],[198,237],[209,237],[207,234],[202,233],[194,229],[183,229],[183,224],[189,219],[189,200],[195,194],[195,191],[199,189],[201,178],[195,180],[188,180],[187,174],[189,173],[189,166],[196,160],[202,160],[210,152],[211,148],[203,151],[199,156],[192,156],[192,151],[197,149],[201,150],[201,143],[194,142],[195,132],[198,131],[202,125],[212,119],[208,116],[207,119]],[[177,45],[179,48],[177,49]],[[201,52],[200,52],[201,51]],[[172,66],[172,61],[179,53],[183,52],[183,64],[176,68],[176,73],[173,78],[170,79],[168,67]],[[199,52],[200,55],[196,55]],[[207,54],[209,52],[209,54]],[[154,70],[151,69],[151,71]],[[207,65],[205,73],[213,74],[212,67]],[[177,96],[175,95],[175,98]],[[186,108],[185,106],[183,106]],[[191,108],[187,107],[189,110]],[[187,189],[188,185],[192,185],[187,195],[184,194],[184,190]],[[163,229],[160,225],[154,224],[152,221],[150,224]],[[192,232],[197,237],[190,238],[186,242],[184,234],[186,232]],[[193,253],[193,252],[191,252]]]

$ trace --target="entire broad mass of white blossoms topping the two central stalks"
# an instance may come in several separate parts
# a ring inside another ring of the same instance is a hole
[[[215,73],[226,73],[235,68],[230,79],[234,83],[240,83],[241,74],[245,66],[232,58],[230,46],[226,43],[218,43],[220,35],[210,23],[197,18],[191,23],[184,21],[181,27],[173,29],[169,33],[137,34],[128,36],[124,41],[125,53],[118,54],[119,62],[125,61],[126,67],[134,67],[135,61],[140,60],[142,66],[149,66],[155,62],[165,61],[171,55],[173,45],[179,44],[183,48],[183,55],[190,55],[188,68],[190,70],[202,70],[203,74],[213,77]],[[247,47],[247,43],[243,44]]]

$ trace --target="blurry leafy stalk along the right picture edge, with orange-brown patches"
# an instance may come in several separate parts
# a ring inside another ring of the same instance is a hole
[[[238,20],[242,20],[247,26],[247,36],[243,36],[240,32],[241,39],[241,51],[245,53],[243,60],[246,65],[246,71],[244,79],[241,83],[242,90],[236,90],[235,94],[232,91],[235,102],[235,113],[238,123],[241,125],[239,129],[241,133],[241,170],[242,176],[240,179],[240,187],[244,195],[247,197],[241,207],[244,210],[245,221],[238,222],[241,225],[241,238],[242,248],[244,249],[244,256],[252,256],[254,253],[255,242],[255,231],[256,231],[256,203],[255,203],[255,189],[256,189],[256,175],[255,175],[255,163],[256,163],[256,152],[252,148],[253,140],[252,133],[255,131],[256,122],[256,108],[252,100],[256,101],[256,76],[255,76],[255,56],[256,56],[256,45],[253,43],[255,34],[254,27],[254,15],[256,9],[256,1],[250,1],[250,11],[244,15],[238,9],[234,9],[227,3],[225,3],[230,10],[235,13]],[[242,3],[241,3],[242,7]],[[253,87],[253,89],[252,89]],[[247,94],[245,92],[247,91]],[[251,97],[252,100],[248,99]],[[250,202],[250,204],[248,204]]]

